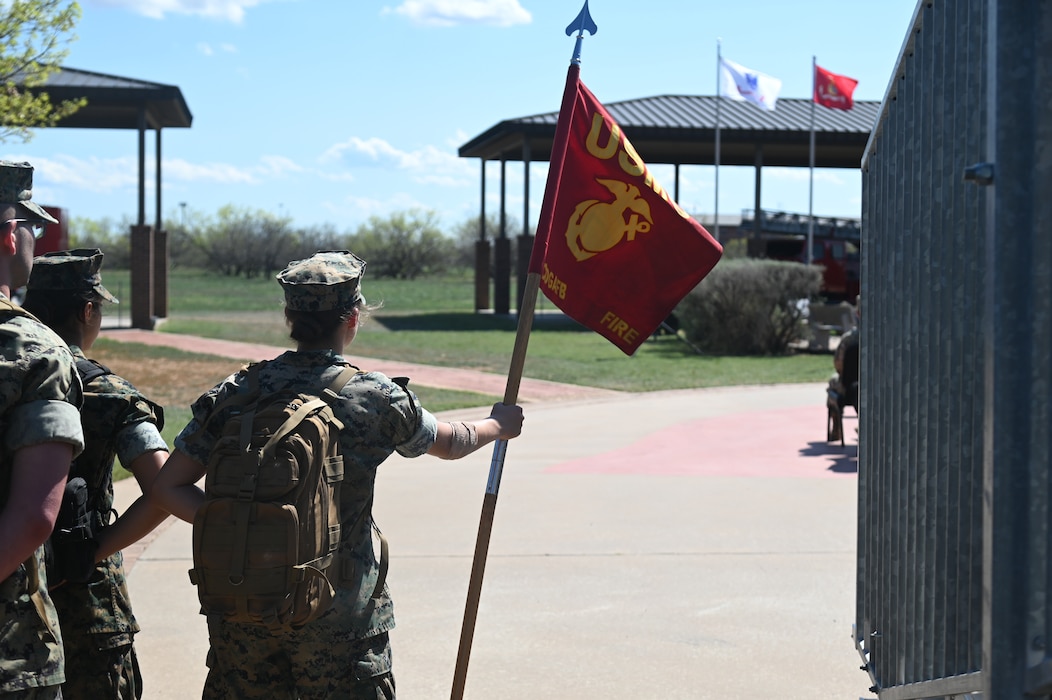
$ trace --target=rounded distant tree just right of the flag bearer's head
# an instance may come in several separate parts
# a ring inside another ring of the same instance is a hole
[[[449,268],[456,243],[442,235],[433,212],[409,209],[387,218],[370,217],[351,236],[350,249],[377,277],[411,280]]]

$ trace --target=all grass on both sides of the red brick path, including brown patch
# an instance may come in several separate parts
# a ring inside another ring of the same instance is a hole
[[[114,294],[127,296],[126,272],[107,272],[104,281]],[[411,281],[366,278],[363,291],[370,303],[382,306],[361,326],[349,355],[508,372],[517,320],[474,313],[473,282],[467,275]],[[176,269],[170,273],[168,294],[168,318],[161,326],[165,333],[291,346],[281,313],[281,289],[272,276],[245,280]],[[107,313],[127,314],[127,305]],[[189,420],[194,398],[237,369],[228,358],[106,339],[97,343],[96,351],[94,355],[118,374],[135,375],[128,378],[164,405],[162,435],[169,445]],[[672,336],[651,339],[627,357],[558,313],[543,297],[538,300],[524,367],[529,378],[626,392],[822,382],[831,373],[829,355],[700,356]],[[173,374],[181,378],[175,386]],[[486,406],[501,398],[419,384],[413,388],[433,412]],[[118,478],[126,476],[118,471]]]

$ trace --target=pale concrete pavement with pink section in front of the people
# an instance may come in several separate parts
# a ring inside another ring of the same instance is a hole
[[[824,438],[824,384],[529,405],[505,459],[466,697],[867,697],[850,638],[857,448]],[[381,467],[403,699],[449,697],[489,461]],[[117,488],[134,497],[134,481]],[[170,520],[135,557],[149,700],[200,694],[190,564],[190,527]]]

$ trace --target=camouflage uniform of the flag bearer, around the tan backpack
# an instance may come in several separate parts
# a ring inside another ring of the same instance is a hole
[[[331,351],[289,351],[260,369],[262,395],[292,387],[320,394],[349,362]],[[245,382],[242,371],[202,396],[194,417],[176,438],[176,447],[202,464],[222,429],[227,408],[211,416]],[[210,700],[274,698],[394,697],[387,632],[394,626],[386,585],[371,597],[379,577],[369,522],[377,467],[398,452],[418,457],[434,443],[438,422],[416,395],[379,373],[358,374],[333,406],[345,425],[340,514],[344,523],[339,551],[340,574],[332,607],[295,632],[208,620],[211,648],[203,697]],[[232,411],[230,408],[229,411]],[[201,426],[206,426],[201,429]],[[364,517],[363,517],[364,516]],[[363,526],[352,527],[352,523]]]

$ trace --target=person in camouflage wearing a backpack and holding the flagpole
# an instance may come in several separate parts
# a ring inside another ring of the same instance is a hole
[[[350,366],[341,353],[353,339],[359,311],[365,304],[359,288],[364,269],[365,262],[349,252],[324,252],[289,263],[278,276],[298,349],[260,367],[262,394],[286,387],[320,394]],[[310,320],[315,314],[326,313],[338,314],[332,329],[310,341],[298,336],[297,322],[304,315]],[[204,501],[193,484],[206,471],[204,465],[227,419],[225,413],[232,409],[225,400],[245,385],[246,372],[228,377],[195,402],[193,419],[176,438],[176,451],[158,476],[154,497],[183,520],[193,520]],[[514,437],[522,425],[518,406],[494,406],[485,421],[458,423],[454,428],[424,409],[407,383],[380,373],[359,373],[341,389],[343,400],[333,402],[333,413],[345,426],[340,435],[343,527],[333,565],[336,580],[331,581],[333,604],[292,632],[209,616],[206,700],[394,697],[388,640],[388,631],[394,626],[393,607],[386,584],[377,589],[381,562],[370,528],[377,468],[394,452],[404,457],[461,457],[494,439]],[[458,429],[469,447],[451,448],[451,435]]]

